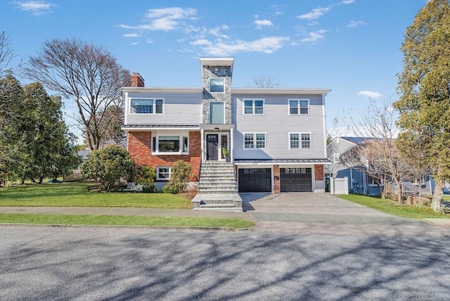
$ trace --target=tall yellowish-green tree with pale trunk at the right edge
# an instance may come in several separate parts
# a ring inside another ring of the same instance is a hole
[[[439,211],[450,181],[450,3],[432,0],[408,27],[399,75],[399,141],[416,140],[435,177],[432,208]],[[400,143],[400,142],[399,142]]]

